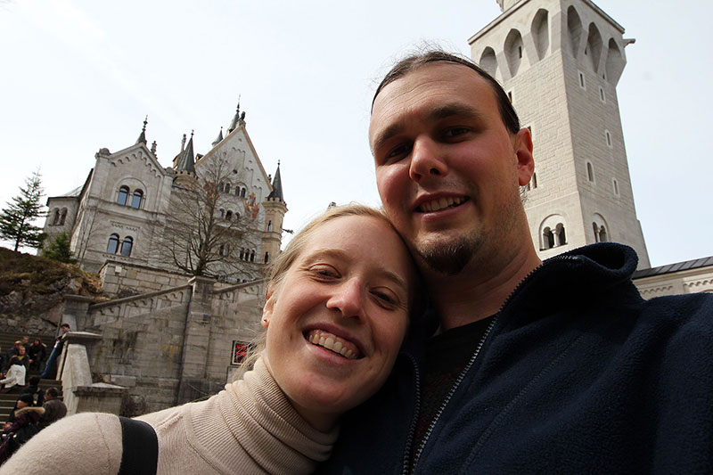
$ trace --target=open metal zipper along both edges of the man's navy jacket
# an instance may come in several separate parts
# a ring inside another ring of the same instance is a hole
[[[414,466],[411,467],[411,470],[409,471],[409,466],[408,466],[408,460],[409,460],[409,454],[410,454],[410,447],[411,443],[413,441],[413,436],[414,436],[414,430],[415,430],[415,423],[418,420],[418,409],[419,409],[419,404],[421,400],[421,383],[419,380],[416,381],[416,413],[414,417],[414,421],[411,423],[411,430],[408,435],[408,441],[406,444],[406,455],[404,455],[404,470],[402,471],[403,475],[407,475],[408,473],[414,473],[416,470],[416,466],[418,465],[418,461],[421,458],[423,448],[426,446],[426,443],[428,442],[430,438],[431,432],[433,432],[433,429],[436,427],[436,424],[438,423],[438,420],[440,419],[440,415],[443,414],[443,411],[446,410],[446,406],[448,405],[448,402],[450,402],[451,398],[455,394],[456,389],[461,385],[461,382],[463,382],[463,379],[465,379],[465,374],[468,373],[468,371],[471,369],[471,366],[475,363],[476,358],[478,358],[478,355],[480,353],[480,349],[483,348],[483,345],[485,344],[485,340],[488,339],[488,335],[490,335],[490,332],[493,330],[493,327],[495,326],[498,317],[502,315],[504,307],[506,307],[509,303],[510,300],[512,299],[512,296],[515,295],[520,289],[525,285],[525,283],[528,283],[530,278],[532,278],[532,275],[535,274],[537,271],[539,271],[545,264],[553,261],[559,261],[559,260],[578,260],[577,257],[575,256],[555,256],[553,258],[547,259],[545,262],[541,263],[539,266],[535,267],[525,277],[522,278],[520,283],[518,283],[514,289],[510,292],[510,294],[507,296],[507,299],[504,300],[503,305],[500,306],[500,308],[497,310],[496,315],[493,317],[493,320],[488,324],[488,328],[486,329],[485,333],[483,336],[480,338],[478,342],[478,346],[475,348],[475,351],[473,352],[473,355],[471,356],[471,359],[468,361],[468,364],[465,365],[463,368],[463,371],[458,375],[458,378],[455,380],[455,383],[453,384],[453,387],[448,391],[448,394],[446,396],[446,399],[444,399],[443,404],[440,405],[438,408],[438,413],[436,413],[436,416],[433,418],[433,421],[430,422],[429,424],[429,429],[426,430],[426,434],[423,436],[423,440],[421,441],[421,446],[418,447],[418,450],[416,451],[416,454],[414,455]],[[409,355],[410,356],[410,355]],[[414,367],[416,368],[416,375],[418,376],[418,367],[415,364],[415,360],[412,358],[412,361],[414,362]]]

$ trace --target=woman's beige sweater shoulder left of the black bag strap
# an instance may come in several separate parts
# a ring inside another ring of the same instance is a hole
[[[121,450],[121,424],[116,415],[75,414],[40,430],[3,470],[29,470],[36,475],[117,473]]]

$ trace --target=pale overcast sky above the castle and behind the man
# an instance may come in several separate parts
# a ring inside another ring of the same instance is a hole
[[[596,4],[636,38],[618,94],[652,266],[713,255],[713,4]],[[469,54],[499,13],[496,0],[0,0],[0,204],[37,168],[48,195],[69,192],[100,148],[135,143],[145,115],[163,166],[192,129],[206,153],[240,96],[266,171],[281,160],[285,227],[330,201],[378,205],[366,129],[379,79],[423,41]]]

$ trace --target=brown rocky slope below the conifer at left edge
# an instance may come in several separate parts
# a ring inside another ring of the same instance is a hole
[[[0,248],[0,332],[51,336],[62,295],[101,293],[99,278],[78,266]]]

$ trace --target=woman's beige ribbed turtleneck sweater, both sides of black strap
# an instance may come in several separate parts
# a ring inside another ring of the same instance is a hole
[[[338,430],[313,429],[291,406],[260,359],[241,381],[207,401],[138,419],[159,438],[159,475],[310,473],[326,460]],[[117,473],[121,426],[112,414],[65,417],[42,430],[0,473]]]

